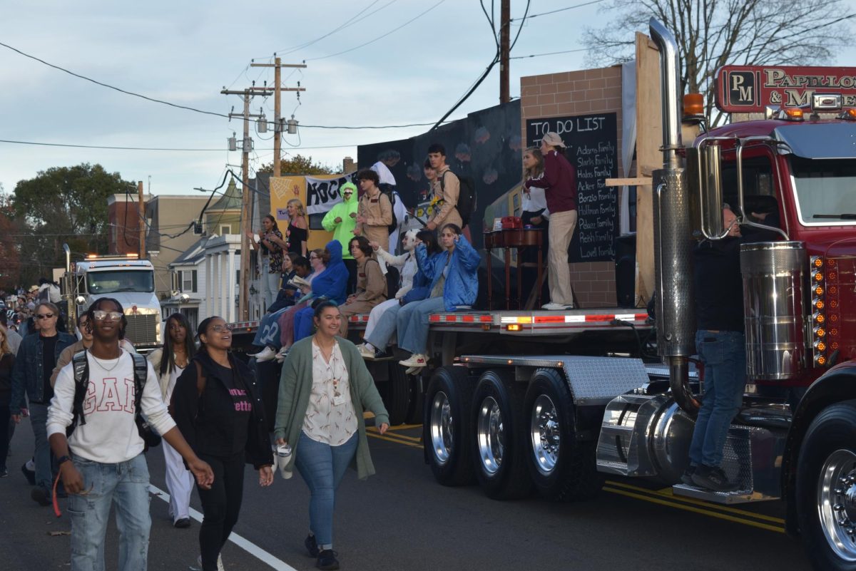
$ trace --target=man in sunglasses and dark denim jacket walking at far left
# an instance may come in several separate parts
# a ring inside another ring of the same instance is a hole
[[[51,505],[51,485],[53,468],[51,445],[45,427],[48,420],[48,405],[54,395],[51,386],[51,374],[62,350],[74,344],[74,336],[56,331],[59,308],[53,303],[39,303],[36,307],[36,320],[39,321],[39,333],[27,335],[21,341],[15,368],[12,370],[12,397],[9,405],[12,420],[21,422],[21,415],[29,407],[30,422],[36,440],[35,464],[36,486],[30,497],[39,505]],[[24,393],[27,393],[27,401]]]

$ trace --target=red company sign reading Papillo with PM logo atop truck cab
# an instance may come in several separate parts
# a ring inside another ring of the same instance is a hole
[[[726,113],[810,105],[815,93],[841,93],[845,107],[856,107],[856,68],[725,66],[716,72],[716,108]]]

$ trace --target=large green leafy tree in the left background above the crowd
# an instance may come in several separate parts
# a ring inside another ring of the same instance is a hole
[[[78,254],[106,253],[107,198],[126,192],[135,196],[136,185],[98,164],[48,168],[19,181],[13,197],[15,218],[29,233],[21,239],[21,258],[29,264],[22,268],[21,280],[51,277],[51,268],[65,266],[62,244]]]

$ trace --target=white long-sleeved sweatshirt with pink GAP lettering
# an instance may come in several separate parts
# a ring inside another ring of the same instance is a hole
[[[145,447],[134,422],[134,361],[126,350],[117,359],[102,360],[86,351],[89,361],[89,386],[83,400],[86,424],[74,428],[68,437],[68,449],[74,456],[94,462],[127,462]],[[143,386],[140,407],[146,420],[158,434],[169,432],[175,421],[161,398],[158,377],[152,363],[146,362],[148,376]],[[48,408],[47,432],[65,434],[74,418],[74,362],[62,368],[56,377],[54,397]]]

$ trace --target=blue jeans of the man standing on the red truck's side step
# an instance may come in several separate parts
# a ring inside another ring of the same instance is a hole
[[[696,349],[704,364],[704,397],[690,444],[690,463],[716,467],[722,464],[728,427],[743,403],[746,338],[734,331],[699,330]]]

